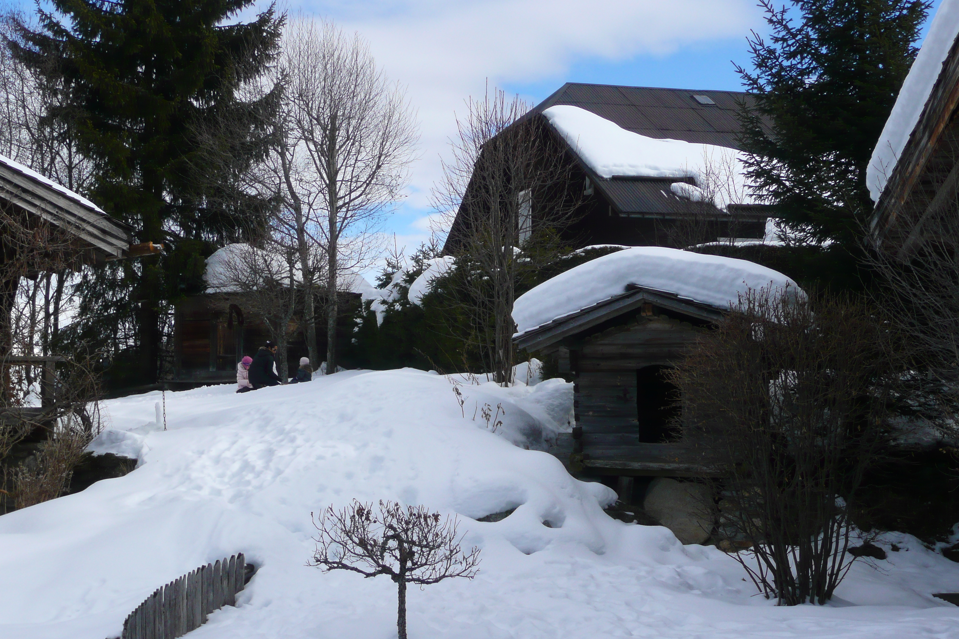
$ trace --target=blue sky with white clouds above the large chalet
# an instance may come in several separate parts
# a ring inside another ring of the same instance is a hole
[[[287,2],[293,14],[325,16],[363,34],[389,77],[408,87],[420,120],[419,159],[407,198],[385,225],[408,250],[429,237],[430,190],[456,112],[487,81],[530,103],[567,81],[738,90],[731,60],[748,67],[746,37],[765,32],[755,0]]]

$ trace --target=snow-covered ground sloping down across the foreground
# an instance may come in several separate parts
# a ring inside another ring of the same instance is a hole
[[[523,447],[564,427],[568,387],[462,385],[460,407],[446,377],[344,372],[168,393],[166,431],[158,393],[108,401],[99,445],[140,465],[0,517],[0,637],[115,637],[158,585],[238,551],[259,566],[240,605],[189,636],[395,637],[392,582],[305,565],[311,511],[353,497],[458,513],[482,548],[476,580],[409,591],[412,638],[959,637],[959,608],[930,596],[959,591],[959,564],[910,537],[882,539],[901,551],[857,564],[832,605],[777,607],[723,553],[609,518],[612,491]],[[483,403],[506,410],[496,433]]]

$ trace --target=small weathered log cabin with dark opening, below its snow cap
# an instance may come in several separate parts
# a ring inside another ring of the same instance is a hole
[[[688,443],[675,442],[677,390],[660,374],[696,331],[722,311],[664,291],[626,292],[515,338],[527,351],[558,358],[573,377],[572,434],[550,452],[573,473],[704,476],[711,468]]]

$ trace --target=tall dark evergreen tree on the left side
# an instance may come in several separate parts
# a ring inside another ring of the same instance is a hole
[[[25,44],[7,44],[66,87],[68,106],[50,116],[70,120],[94,161],[92,197],[140,240],[170,249],[159,259],[88,273],[80,289],[82,308],[96,322],[88,332],[103,342],[122,340],[126,331],[140,364],[128,383],[149,383],[166,310],[185,287],[181,267],[195,266],[203,256],[194,253],[209,242],[230,240],[249,225],[243,211],[224,204],[229,198],[211,193],[216,169],[196,161],[204,144],[198,131],[203,123],[229,129],[233,139],[223,146],[242,148],[249,162],[265,152],[269,127],[256,115],[268,115],[269,99],[244,103],[237,89],[266,70],[283,19],[270,7],[252,22],[224,24],[252,0],[51,2],[54,11],[38,12],[37,29],[18,23]],[[232,126],[214,124],[223,122]],[[243,208],[258,210],[248,201]]]

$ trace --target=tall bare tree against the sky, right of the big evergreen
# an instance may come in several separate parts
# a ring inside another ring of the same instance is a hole
[[[405,91],[377,68],[359,34],[345,34],[332,22],[292,20],[280,73],[278,154],[288,226],[308,287],[311,246],[325,252],[326,359],[334,372],[339,276],[367,260],[371,232],[407,183],[418,133]],[[313,304],[308,294],[308,317]],[[316,335],[307,341],[316,359]]]

